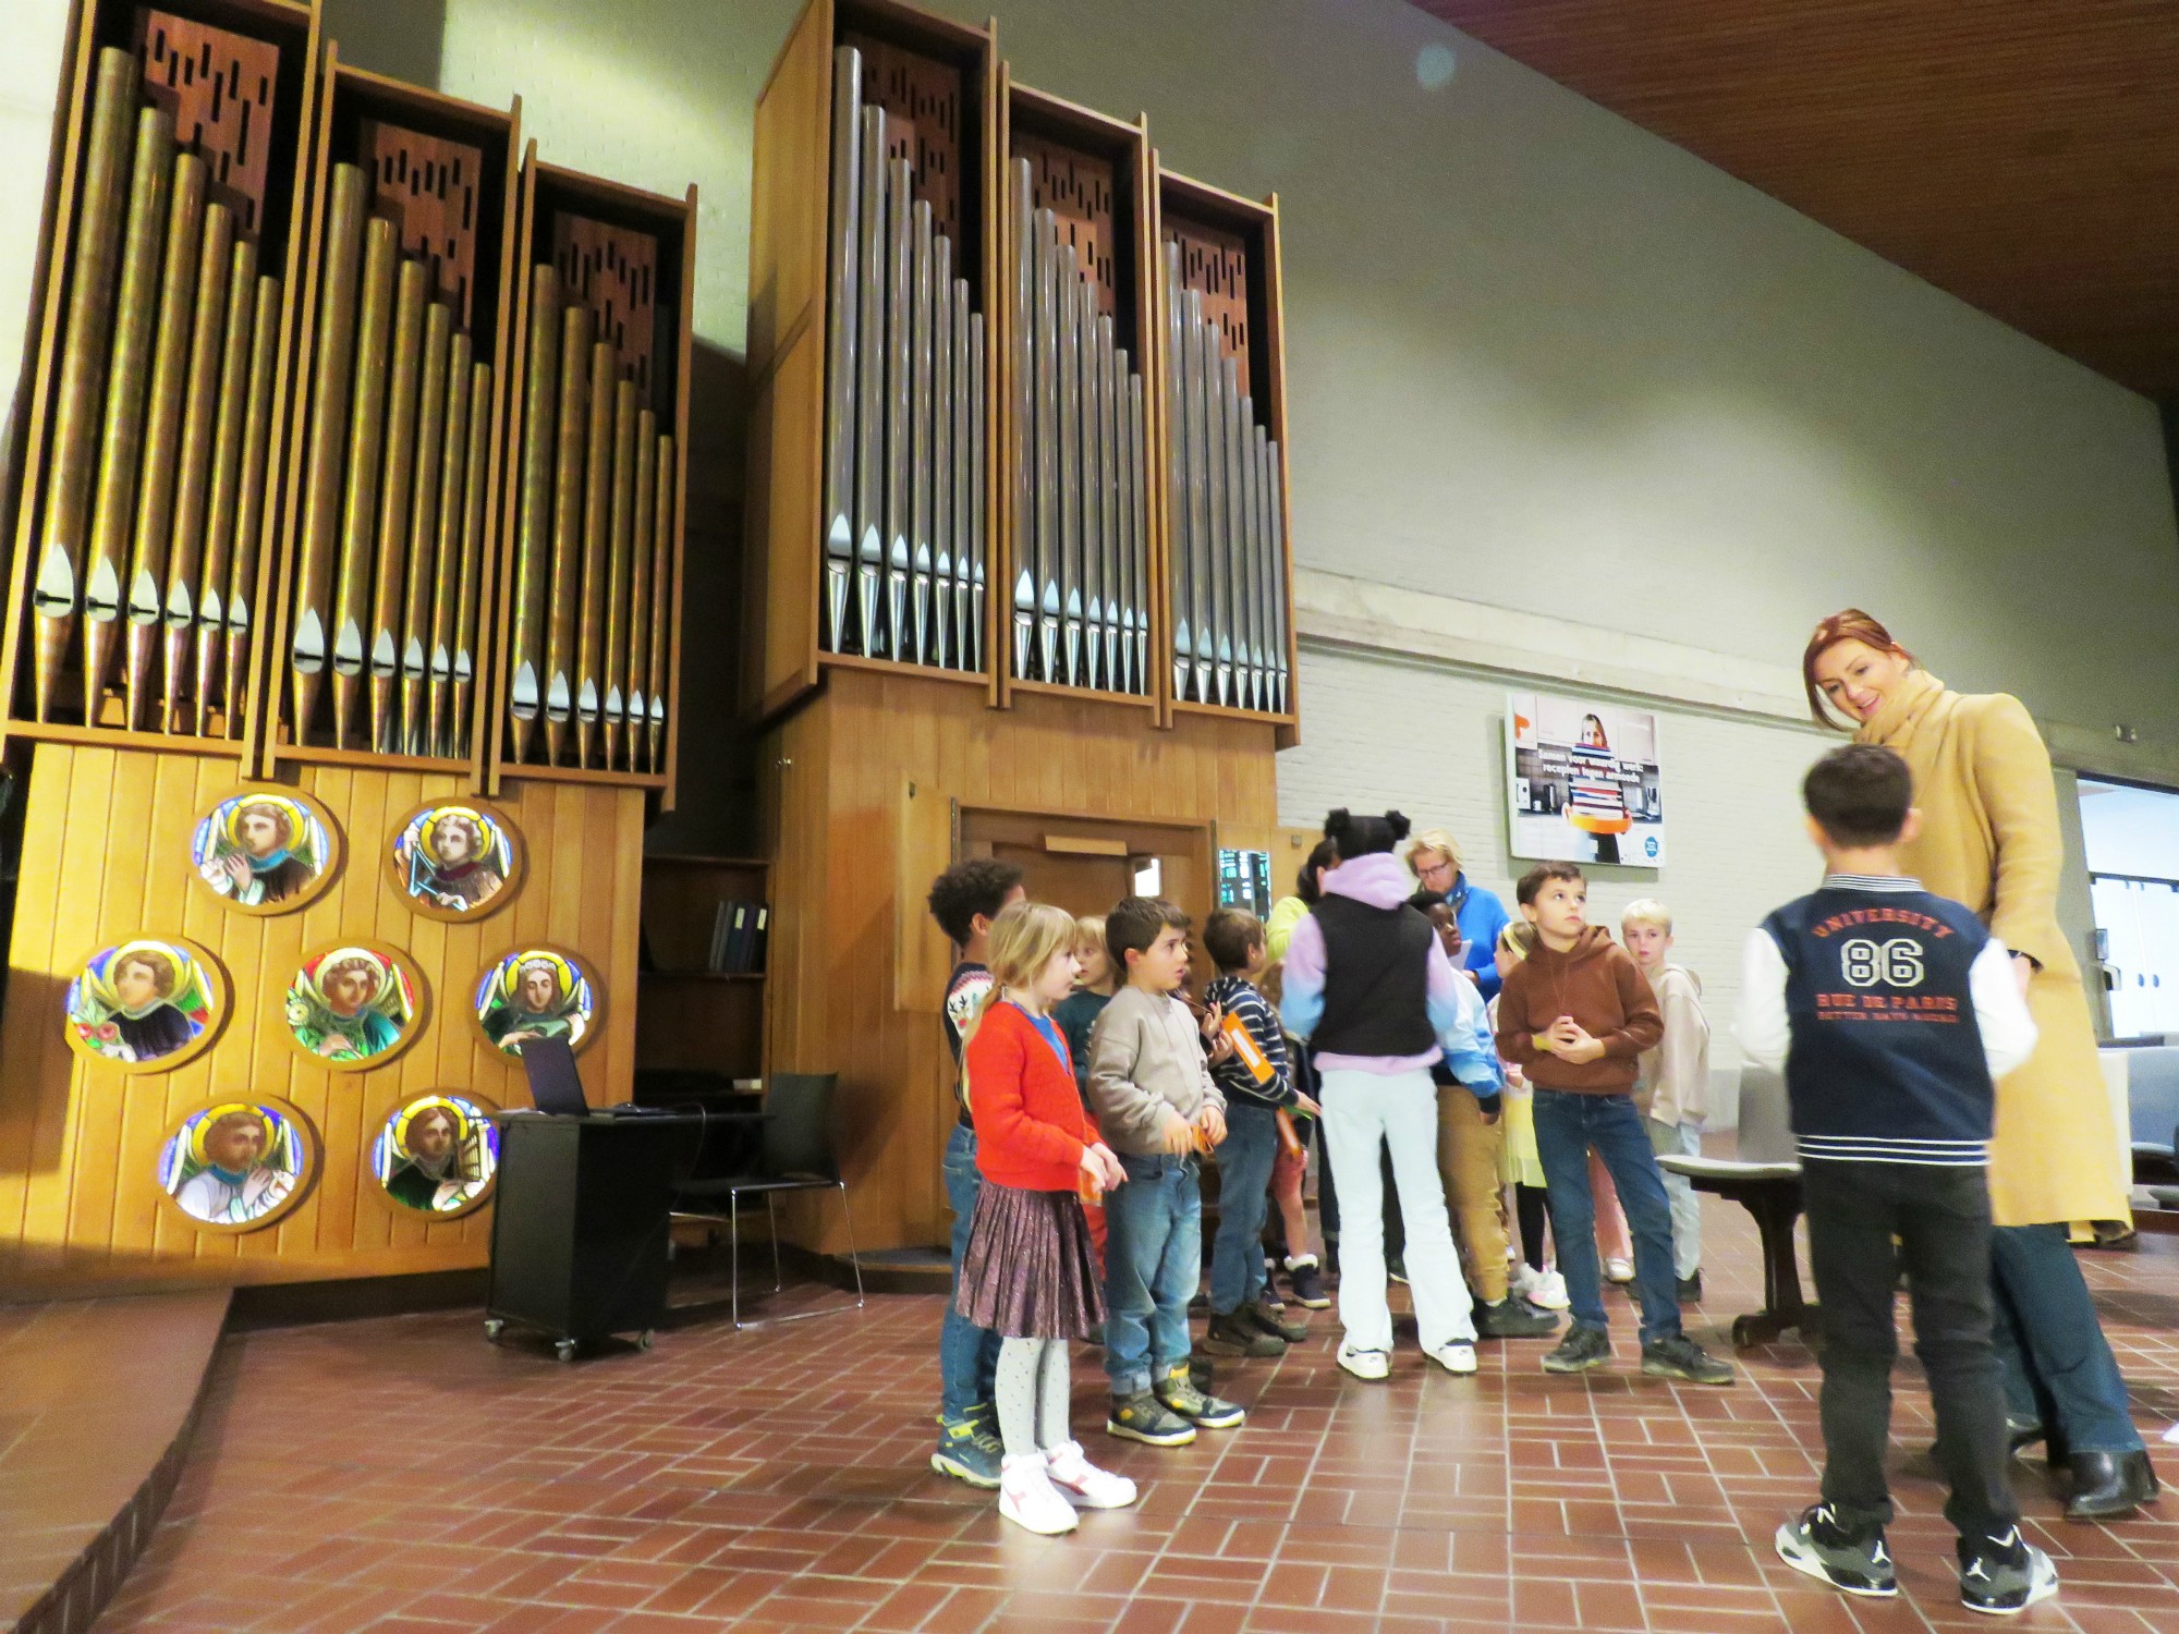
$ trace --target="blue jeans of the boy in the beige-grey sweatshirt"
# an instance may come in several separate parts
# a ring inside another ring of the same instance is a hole
[[[1194,1157],[1120,1153],[1105,1194],[1105,1377],[1133,1397],[1188,1362],[1188,1301],[1203,1281],[1203,1187]]]

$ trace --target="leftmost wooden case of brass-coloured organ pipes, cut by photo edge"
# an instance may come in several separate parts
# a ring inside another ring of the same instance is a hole
[[[248,754],[255,632],[229,610],[261,603],[281,503],[316,57],[292,0],[76,11],[0,734]]]

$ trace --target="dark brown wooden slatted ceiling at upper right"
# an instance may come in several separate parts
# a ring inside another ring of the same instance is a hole
[[[1414,0],[1887,261],[2179,397],[2175,0]]]

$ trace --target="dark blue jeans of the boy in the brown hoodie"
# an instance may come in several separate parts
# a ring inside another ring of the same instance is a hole
[[[1595,1146],[1634,1237],[1641,1342],[1673,1338],[1680,1331],[1680,1288],[1671,1275],[1671,1203],[1634,1096],[1536,1089],[1534,1107],[1536,1155],[1551,1194],[1551,1242],[1558,1244],[1558,1272],[1573,1301],[1573,1325],[1608,1327],[1597,1277],[1597,1203],[1588,1192],[1588,1148]]]

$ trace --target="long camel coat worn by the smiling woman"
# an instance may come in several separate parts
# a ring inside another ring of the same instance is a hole
[[[2081,967],[2057,926],[2064,843],[2050,754],[2035,721],[2018,697],[1968,697],[1918,669],[1854,739],[1898,749],[1913,767],[1922,832],[1900,850],[1900,867],[2042,965],[2029,983],[2035,1054],[1998,1085],[1992,1218],[2129,1220],[2096,1028]]]

